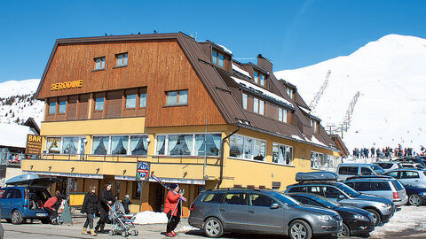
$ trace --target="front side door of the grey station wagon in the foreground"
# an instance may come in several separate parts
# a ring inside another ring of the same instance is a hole
[[[272,234],[283,232],[283,208],[282,206],[271,208],[272,204],[279,203],[264,194],[250,194],[248,199],[248,230]]]

